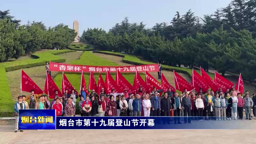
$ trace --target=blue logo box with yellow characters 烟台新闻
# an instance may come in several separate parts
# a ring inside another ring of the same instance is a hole
[[[54,109],[20,109],[19,129],[21,130],[55,130]]]

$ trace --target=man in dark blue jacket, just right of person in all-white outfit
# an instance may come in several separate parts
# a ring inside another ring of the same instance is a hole
[[[157,96],[158,92],[154,92],[154,96],[151,97],[151,109],[153,110],[153,115],[152,116],[160,116],[160,111],[161,111],[161,102],[160,102],[160,97]]]

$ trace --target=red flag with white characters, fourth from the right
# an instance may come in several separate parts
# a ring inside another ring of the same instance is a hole
[[[202,89],[203,93],[205,93],[209,89],[204,78],[200,76],[194,68],[192,71],[191,84],[195,87],[196,92],[199,92],[199,90]]]

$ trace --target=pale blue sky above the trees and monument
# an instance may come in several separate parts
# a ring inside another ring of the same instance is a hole
[[[87,28],[109,30],[124,17],[130,22],[143,21],[147,28],[156,23],[170,23],[176,11],[184,14],[189,9],[196,16],[212,14],[217,8],[226,7],[231,0],[0,0],[0,10],[11,10],[11,15],[27,21],[43,21],[55,26],[64,23],[73,28],[79,22],[79,35]]]

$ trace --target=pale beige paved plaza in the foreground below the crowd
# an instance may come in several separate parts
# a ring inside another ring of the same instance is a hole
[[[244,120],[245,121],[245,120]],[[230,121],[243,126],[243,121]],[[255,126],[256,120],[252,120]],[[248,123],[247,123],[248,124]],[[243,144],[255,142],[250,130],[25,130],[0,126],[0,144]]]

